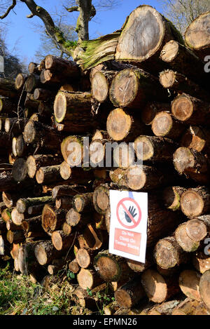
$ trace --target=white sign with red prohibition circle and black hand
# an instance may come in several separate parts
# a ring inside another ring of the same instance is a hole
[[[109,253],[145,263],[148,194],[109,191]]]

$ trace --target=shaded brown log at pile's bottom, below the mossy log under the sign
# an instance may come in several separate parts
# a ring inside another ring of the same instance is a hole
[[[144,289],[141,286],[141,279],[134,278],[125,286],[118,289],[115,293],[116,302],[120,307],[130,309],[134,307],[145,296]]]

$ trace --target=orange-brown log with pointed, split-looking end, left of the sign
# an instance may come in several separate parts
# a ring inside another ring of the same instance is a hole
[[[41,225],[46,233],[52,234],[53,231],[60,229],[65,219],[66,210],[53,210],[53,208],[47,204],[43,207]]]

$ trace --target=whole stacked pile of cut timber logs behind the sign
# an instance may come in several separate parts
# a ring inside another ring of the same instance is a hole
[[[94,293],[109,284],[116,301],[106,314],[209,314],[210,96],[203,58],[151,6],[137,8],[112,41],[115,58],[89,71],[48,55],[29,64],[28,76],[0,79],[1,257],[10,254],[15,271],[31,280],[68,269],[81,307],[95,308]],[[112,154],[115,166],[101,166],[106,142],[124,142]],[[134,165],[134,157],[144,165]],[[148,192],[146,264],[107,250],[109,189]]]

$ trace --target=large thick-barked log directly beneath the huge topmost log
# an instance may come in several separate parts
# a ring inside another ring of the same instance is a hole
[[[167,92],[143,69],[123,69],[113,79],[109,97],[115,107],[141,109],[147,100],[167,100]]]

